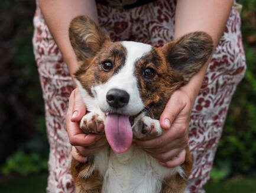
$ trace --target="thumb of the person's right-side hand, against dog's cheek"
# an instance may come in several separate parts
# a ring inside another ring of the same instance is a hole
[[[163,129],[169,129],[173,121],[179,115],[180,111],[186,106],[186,103],[177,98],[176,96],[171,96],[169,101],[164,108],[163,113],[160,117],[160,125]]]

